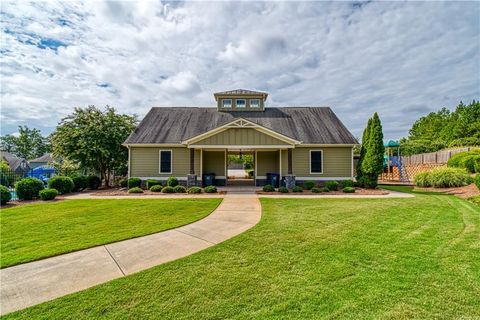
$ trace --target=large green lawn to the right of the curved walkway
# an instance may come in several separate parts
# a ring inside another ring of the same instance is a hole
[[[262,199],[222,244],[6,319],[476,319],[480,209],[450,195]]]

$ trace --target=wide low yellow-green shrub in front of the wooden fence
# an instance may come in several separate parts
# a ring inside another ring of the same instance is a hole
[[[469,185],[472,178],[465,169],[441,167],[415,175],[413,182],[417,187],[451,188]]]

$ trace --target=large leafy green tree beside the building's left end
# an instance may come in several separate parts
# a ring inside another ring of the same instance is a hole
[[[112,172],[127,162],[122,143],[136,124],[136,116],[117,114],[109,106],[104,111],[95,106],[75,108],[52,135],[54,154],[99,172],[109,186]]]

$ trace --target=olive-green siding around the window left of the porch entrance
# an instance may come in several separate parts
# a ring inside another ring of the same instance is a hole
[[[172,150],[172,173],[159,173],[160,150]],[[190,173],[190,149],[186,147],[131,147],[131,177],[186,177]],[[200,151],[195,151],[195,173],[200,174]]]

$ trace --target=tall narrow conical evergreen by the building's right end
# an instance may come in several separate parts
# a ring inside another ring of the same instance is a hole
[[[370,133],[368,135],[369,141],[361,169],[365,187],[375,188],[378,182],[378,175],[383,171],[385,147],[383,145],[382,123],[376,112],[371,120]]]

